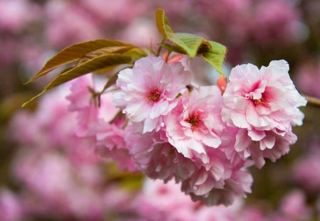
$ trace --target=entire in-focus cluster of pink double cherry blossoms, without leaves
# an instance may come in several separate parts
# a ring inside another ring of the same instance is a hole
[[[90,93],[92,80],[75,80],[69,108],[78,112],[79,136],[120,168],[174,179],[206,205],[230,205],[251,192],[248,166],[276,161],[297,140],[292,126],[302,124],[298,107],[306,99],[288,71],[284,60],[260,70],[238,65],[226,87],[221,78],[218,86],[193,87],[185,56],[148,55],[119,72],[101,108]]]

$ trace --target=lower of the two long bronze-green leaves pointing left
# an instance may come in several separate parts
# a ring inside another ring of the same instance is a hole
[[[93,58],[85,63],[71,68],[70,70],[66,69],[63,72],[61,72],[57,77],[55,77],[55,79],[52,82],[46,85],[46,87],[39,95],[36,95],[36,97],[33,97],[28,102],[31,102],[33,99],[36,99],[37,97],[43,95],[45,92],[52,89],[53,87],[57,87],[58,85],[61,85],[65,82],[68,82],[69,80],[73,80],[77,77],[85,75],[89,72],[100,70],[102,68],[112,67],[114,65],[122,65],[128,63],[132,63],[132,57],[129,55],[107,54],[99,56],[97,58]],[[26,104],[28,104],[28,102],[24,103],[22,107],[25,107]]]

